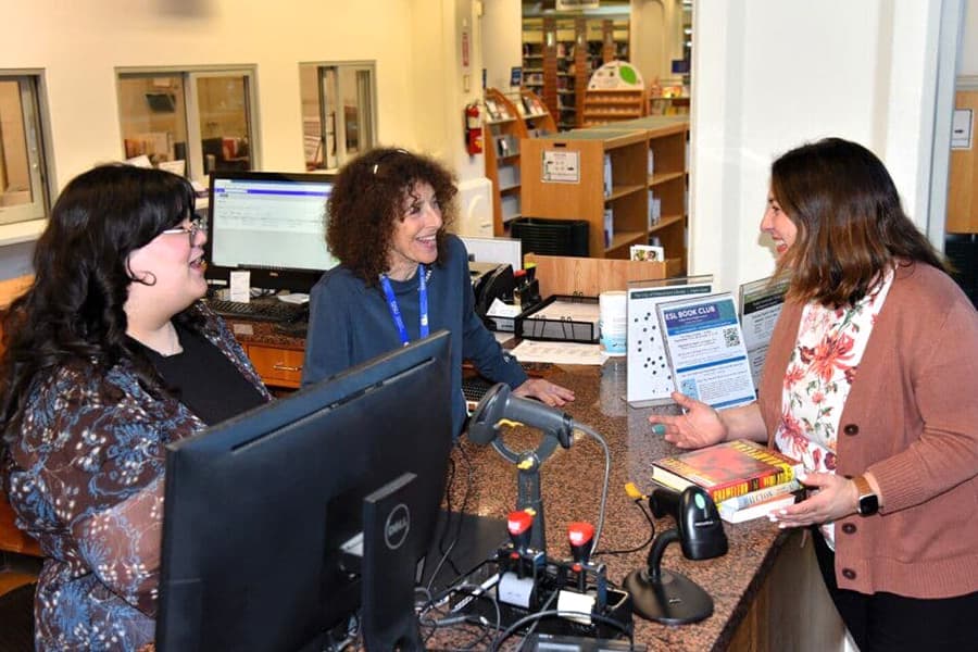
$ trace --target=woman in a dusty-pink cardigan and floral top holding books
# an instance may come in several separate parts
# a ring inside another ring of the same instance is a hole
[[[761,230],[790,288],[757,402],[716,412],[675,393],[684,414],[653,429],[680,448],[767,441],[804,463],[807,499],[772,519],[813,526],[863,652],[975,649],[978,313],[856,143],[775,161]]]

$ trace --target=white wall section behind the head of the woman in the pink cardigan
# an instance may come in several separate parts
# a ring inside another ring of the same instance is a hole
[[[767,276],[769,166],[805,141],[874,150],[926,228],[941,0],[697,2],[690,248],[723,289]],[[943,217],[941,217],[943,218]]]

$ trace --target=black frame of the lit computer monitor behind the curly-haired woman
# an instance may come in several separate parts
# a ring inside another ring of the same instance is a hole
[[[208,188],[208,241],[204,244],[204,260],[208,267],[204,278],[208,284],[216,287],[227,287],[230,283],[233,271],[248,271],[251,278],[251,287],[263,290],[289,290],[292,292],[309,293],[314,285],[323,276],[326,269],[305,269],[300,267],[255,267],[241,265],[231,267],[213,263],[212,242],[214,240],[214,184],[218,179],[255,180],[255,181],[294,181],[303,184],[336,183],[336,175],[330,173],[312,172],[256,172],[215,170],[211,173]],[[324,217],[325,220],[325,217]],[[326,247],[325,240],[323,247]]]

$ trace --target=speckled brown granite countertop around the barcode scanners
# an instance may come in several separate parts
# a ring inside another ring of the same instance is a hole
[[[649,537],[649,524],[624,491],[634,481],[643,492],[651,489],[650,464],[659,457],[680,452],[651,432],[647,417],[653,410],[634,409],[625,401],[625,361],[606,362],[603,366],[553,367],[548,378],[574,389],[577,399],[565,408],[574,419],[597,430],[611,451],[612,471],[609,486],[602,550],[631,549]],[[530,428],[507,430],[504,441],[511,450],[536,449],[540,434]],[[481,516],[505,517],[516,504],[516,468],[490,446],[477,446],[463,438],[453,452],[455,474],[452,504],[462,503],[466,473],[472,466],[472,490],[466,511]],[[557,447],[541,465],[541,490],[547,525],[548,553],[552,557],[569,556],[566,527],[573,521],[595,523],[604,475],[604,453],[591,437],[576,434],[570,449]],[[674,527],[670,517],[656,519],[656,531]],[[678,543],[666,549],[662,567],[677,570],[703,587],[714,600],[714,613],[697,624],[666,626],[635,617],[636,642],[650,650],[697,651],[725,650],[773,566],[778,551],[788,538],[766,518],[744,524],[724,524],[729,552],[722,557],[689,561]],[[501,532],[505,538],[505,532]],[[649,548],[639,552],[598,557],[607,565],[609,579],[620,585],[629,572],[643,567]],[[441,632],[430,641],[438,645]]]

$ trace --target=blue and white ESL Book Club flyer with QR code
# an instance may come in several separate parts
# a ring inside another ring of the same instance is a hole
[[[723,410],[754,400],[754,381],[730,292],[656,305],[673,381]]]

